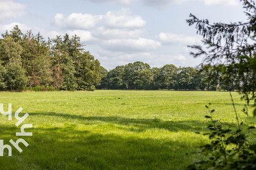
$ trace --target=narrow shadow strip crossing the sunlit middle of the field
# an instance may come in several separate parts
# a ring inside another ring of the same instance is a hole
[[[125,118],[125,117],[84,117],[83,115],[69,115],[69,114],[60,114],[60,113],[29,113],[31,116],[36,115],[45,115],[51,117],[61,117],[71,120],[80,120],[84,121],[85,124],[95,124],[97,121],[104,123],[113,123],[123,126],[134,126],[137,129],[131,128],[130,131],[133,132],[143,132],[147,129],[166,129],[172,132],[178,131],[202,131],[205,129],[207,124],[204,121],[199,120],[185,120],[185,121],[163,121],[156,118]],[[129,131],[129,128],[128,128]]]

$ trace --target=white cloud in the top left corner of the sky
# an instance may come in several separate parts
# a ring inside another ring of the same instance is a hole
[[[0,21],[15,18],[26,13],[26,6],[13,2],[12,0],[0,0]]]

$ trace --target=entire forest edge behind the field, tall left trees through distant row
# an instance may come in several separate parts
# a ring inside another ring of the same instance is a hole
[[[83,47],[76,35],[46,41],[16,25],[0,39],[0,90],[235,89],[235,79],[222,75],[224,66],[151,68],[137,61],[107,71]]]

